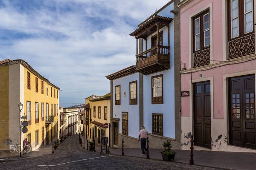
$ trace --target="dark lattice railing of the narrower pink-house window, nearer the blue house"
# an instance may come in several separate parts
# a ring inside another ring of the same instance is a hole
[[[210,48],[193,53],[193,68],[210,64]]]

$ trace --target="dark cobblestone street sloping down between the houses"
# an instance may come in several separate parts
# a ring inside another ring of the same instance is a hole
[[[18,166],[17,166],[18,165]],[[100,155],[84,150],[78,135],[68,137],[53,154],[35,158],[0,162],[1,170],[215,170],[175,162],[140,159],[128,156]]]

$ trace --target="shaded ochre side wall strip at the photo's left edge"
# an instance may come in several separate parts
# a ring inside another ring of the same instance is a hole
[[[0,67],[0,150],[9,150],[9,65]]]

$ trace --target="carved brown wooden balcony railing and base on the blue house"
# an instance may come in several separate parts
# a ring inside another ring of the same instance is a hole
[[[157,45],[137,55],[137,71],[152,74],[170,68],[169,46]]]

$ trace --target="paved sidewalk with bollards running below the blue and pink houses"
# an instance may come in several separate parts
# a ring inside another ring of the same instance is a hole
[[[84,139],[84,138],[83,138]],[[85,140],[85,149],[86,140]],[[149,156],[151,159],[162,160],[160,149],[150,149]],[[174,150],[175,162],[189,163],[190,150]],[[100,152],[100,145],[96,144],[96,152]],[[111,154],[122,155],[122,148],[111,147]],[[124,148],[125,156],[134,156],[146,158],[146,155],[140,155],[141,150],[138,148]],[[256,170],[256,153],[240,152],[216,152],[194,150],[194,163],[197,165],[218,167],[230,170]]]

